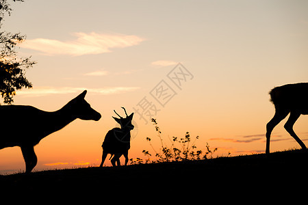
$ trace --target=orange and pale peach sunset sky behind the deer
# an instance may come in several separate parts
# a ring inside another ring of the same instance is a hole
[[[33,89],[16,92],[14,105],[55,111],[88,90],[86,100],[102,115],[42,139],[34,170],[99,165],[105,134],[117,126],[113,110],[125,115],[120,107],[135,112],[129,158],[153,153],[146,137],[159,149],[149,113],[166,146],[189,131],[200,137],[198,149],[209,143],[224,156],[264,152],[274,115],[268,92],[308,78],[304,0],[25,0],[11,6],[1,29],[27,35],[18,55],[38,62],[26,73]],[[285,121],[274,128],[271,152],[299,148]],[[305,115],[296,122],[300,139],[308,139],[307,125]],[[23,170],[20,148],[0,150],[0,174]]]

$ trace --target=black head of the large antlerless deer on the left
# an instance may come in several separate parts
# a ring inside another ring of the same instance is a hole
[[[81,120],[95,120],[101,119],[101,114],[90,106],[90,104],[84,99],[87,91],[85,90],[79,96],[70,100],[68,104],[65,105],[66,109],[70,111],[76,118]]]

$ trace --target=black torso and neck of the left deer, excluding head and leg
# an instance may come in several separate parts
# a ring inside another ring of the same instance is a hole
[[[61,109],[47,112],[23,105],[1,106],[0,113],[0,125],[4,128],[0,148],[27,144],[36,146],[41,139],[76,119],[64,114]]]

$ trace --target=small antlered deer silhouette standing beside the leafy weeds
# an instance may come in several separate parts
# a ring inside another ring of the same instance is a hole
[[[131,124],[131,120],[133,120],[133,113],[131,115],[127,115],[127,112],[124,107],[122,107],[125,111],[126,118],[122,118],[116,111],[114,113],[118,115],[120,118],[114,118],[118,124],[120,124],[121,128],[113,128],[108,131],[103,141],[103,155],[101,157],[101,165],[99,167],[103,167],[103,163],[107,157],[107,154],[112,154],[114,156],[111,162],[113,166],[120,166],[120,156],[124,155],[125,157],[125,165],[128,162],[128,150],[131,148],[131,130],[133,130],[134,126]]]

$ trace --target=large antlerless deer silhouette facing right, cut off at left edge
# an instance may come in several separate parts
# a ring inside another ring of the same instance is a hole
[[[21,147],[26,165],[25,172],[31,172],[37,163],[34,146],[41,139],[59,131],[77,118],[95,121],[101,118],[101,114],[84,100],[86,93],[85,90],[62,109],[53,112],[26,105],[0,106],[0,150],[14,146]]]

